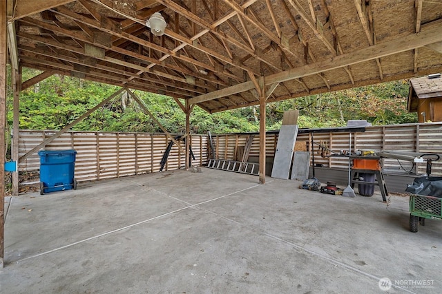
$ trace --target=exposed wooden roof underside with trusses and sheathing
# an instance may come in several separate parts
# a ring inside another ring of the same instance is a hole
[[[442,70],[442,0],[7,0],[10,60],[208,112]],[[163,36],[146,27],[160,12]]]

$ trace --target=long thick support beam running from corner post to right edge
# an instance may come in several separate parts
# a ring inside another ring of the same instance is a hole
[[[278,72],[266,76],[265,83],[270,85],[273,83],[282,83],[285,81],[291,81],[295,78],[302,78],[303,76],[309,76],[311,74],[318,74],[320,72],[327,72],[329,70],[336,70],[340,67],[347,67],[357,63],[381,58],[383,56],[389,56],[396,53],[401,53],[414,48],[423,47],[432,43],[442,41],[442,25],[441,26],[429,26],[425,30],[422,30],[418,34],[410,34],[403,36],[392,41],[385,43],[379,43],[368,48],[363,48],[354,52],[350,52],[343,55],[334,56],[332,59],[328,59],[321,62],[311,63],[301,67],[296,67],[285,72]],[[240,92],[253,89],[254,85],[251,81],[234,85],[231,87],[203,94],[190,98],[190,103],[201,103],[204,101],[210,101],[216,98],[229,96],[232,94],[238,94]]]

